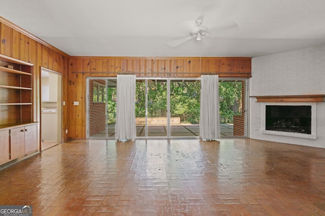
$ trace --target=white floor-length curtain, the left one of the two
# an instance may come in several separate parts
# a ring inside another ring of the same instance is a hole
[[[117,75],[116,90],[116,133],[117,140],[136,138],[136,76]]]

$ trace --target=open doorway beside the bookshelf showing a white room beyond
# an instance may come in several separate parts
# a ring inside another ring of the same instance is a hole
[[[61,143],[62,75],[41,68],[41,150]]]

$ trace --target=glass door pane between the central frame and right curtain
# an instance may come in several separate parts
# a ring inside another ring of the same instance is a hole
[[[171,137],[199,137],[200,80],[171,80]]]

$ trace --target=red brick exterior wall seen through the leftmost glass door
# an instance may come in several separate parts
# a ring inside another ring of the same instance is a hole
[[[103,84],[105,80],[89,80],[89,136],[98,134],[106,129],[106,103],[93,102],[93,82]]]

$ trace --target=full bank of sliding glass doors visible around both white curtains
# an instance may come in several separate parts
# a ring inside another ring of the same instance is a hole
[[[220,136],[244,137],[247,122],[245,80],[219,80]],[[87,138],[115,139],[116,79],[87,78]],[[138,78],[137,138],[198,138],[199,78]]]

